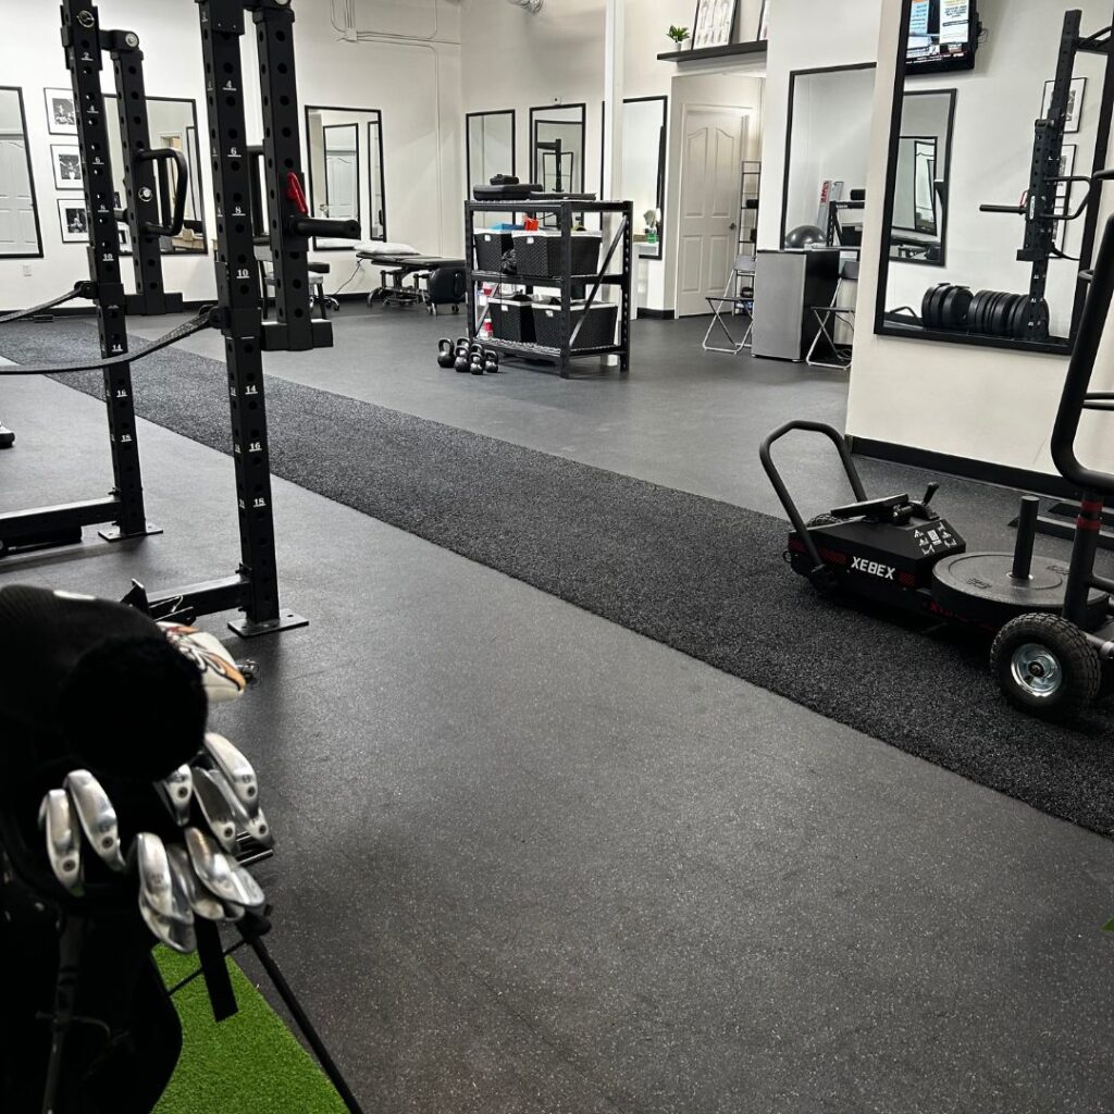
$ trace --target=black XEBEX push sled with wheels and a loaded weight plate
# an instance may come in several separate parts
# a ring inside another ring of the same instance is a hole
[[[1061,475],[1081,494],[1068,564],[1034,556],[1037,500],[1022,499],[1013,554],[968,553],[931,507],[908,495],[869,499],[843,437],[830,426],[792,421],[762,443],[762,465],[793,525],[785,559],[823,594],[874,600],[996,632],[990,668],[1016,706],[1068,714],[1114,678],[1114,579],[1095,573],[1103,500],[1114,476],[1079,462],[1075,440],[1084,410],[1114,410],[1114,392],[1089,391],[1095,356],[1114,300],[1114,217],[1103,234],[1052,436]],[[839,450],[856,502],[805,522],[771,456],[793,430],[822,433]]]

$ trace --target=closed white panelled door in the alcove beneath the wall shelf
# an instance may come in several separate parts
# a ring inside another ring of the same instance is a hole
[[[727,284],[739,244],[740,164],[746,138],[743,110],[685,114],[681,163],[677,316],[711,313],[705,301]]]

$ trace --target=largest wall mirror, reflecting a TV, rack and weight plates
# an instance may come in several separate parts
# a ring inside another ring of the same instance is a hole
[[[1071,351],[1098,206],[1067,179],[1094,173],[1108,134],[1114,89],[1087,39],[1112,8],[902,0],[878,332]]]

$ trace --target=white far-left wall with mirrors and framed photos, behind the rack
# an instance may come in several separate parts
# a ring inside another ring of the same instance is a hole
[[[359,29],[381,36],[436,35],[429,42],[405,38],[380,41],[343,41],[331,25],[324,0],[296,0],[295,42],[301,106],[338,105],[380,108],[383,113],[389,232],[422,251],[460,251],[463,235],[459,193],[462,177],[460,108],[460,13],[450,0],[358,0]],[[145,55],[147,91],[153,97],[188,97],[197,102],[205,129],[205,99],[197,8],[182,0],[105,0],[99,4],[102,26],[139,35]],[[86,248],[62,244],[55,198],[50,143],[43,106],[43,87],[69,87],[59,45],[58,8],[52,3],[7,3],[4,35],[0,38],[0,74],[7,85],[21,86],[43,260],[0,260],[0,306],[30,305],[60,293],[88,274]],[[245,72],[254,61],[254,39],[245,36]],[[113,89],[111,62],[106,59],[104,88]],[[245,107],[257,139],[258,91],[246,82]],[[299,121],[304,127],[304,116]],[[203,155],[202,177],[208,235],[214,235],[212,180]],[[75,194],[75,196],[78,196]],[[322,253],[333,264],[333,285],[351,273],[351,252]],[[31,275],[23,275],[25,264]],[[208,254],[164,256],[167,287],[188,300],[215,294]],[[130,290],[131,268],[125,266]],[[371,289],[378,274],[353,283],[350,291]]]

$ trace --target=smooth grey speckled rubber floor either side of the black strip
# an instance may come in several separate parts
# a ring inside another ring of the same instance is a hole
[[[703,354],[704,328],[638,322],[626,380],[480,380],[433,360],[458,317],[352,304],[333,350],[267,370],[776,514],[758,441],[839,424],[846,375]],[[0,413],[0,510],[108,486],[95,400],[13,379]],[[231,460],[147,422],[140,448],[164,535],[0,583],[231,571]],[[810,511],[846,501],[827,453],[794,452]],[[940,496],[995,545],[1014,498]],[[1114,1108],[1110,841],[304,489],[275,504],[311,625],[236,645],[262,682],[215,724],[280,840],[272,950],[369,1110]]]

